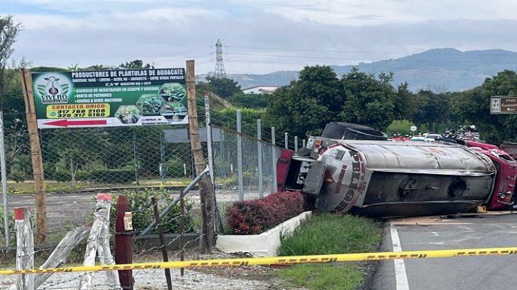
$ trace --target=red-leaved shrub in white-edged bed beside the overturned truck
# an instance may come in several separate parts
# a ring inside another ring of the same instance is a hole
[[[226,222],[235,235],[255,235],[303,212],[304,197],[298,191],[271,193],[257,200],[234,202],[226,209]]]

